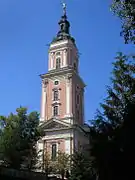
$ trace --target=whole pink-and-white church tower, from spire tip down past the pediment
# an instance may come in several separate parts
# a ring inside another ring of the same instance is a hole
[[[73,154],[88,142],[83,128],[85,84],[79,75],[79,53],[65,4],[58,24],[59,31],[49,47],[48,72],[41,75],[40,124],[45,136],[39,147],[50,152],[52,160],[58,151]]]

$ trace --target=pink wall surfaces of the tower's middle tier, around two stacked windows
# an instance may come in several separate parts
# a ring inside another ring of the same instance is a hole
[[[46,86],[46,104],[45,104],[45,114],[46,120],[53,118],[53,106],[55,103],[59,104],[59,114],[58,118],[62,119],[66,116],[67,112],[67,86],[69,87],[69,115],[75,116],[76,121],[79,124],[83,124],[83,86],[80,83],[80,80],[77,76],[72,76],[69,80],[69,84],[67,85],[67,77],[56,78],[59,84],[56,86],[54,84],[55,80],[48,78],[48,84]],[[54,101],[54,89],[58,89],[59,99],[58,101]],[[78,96],[78,97],[77,97]],[[78,99],[78,100],[77,100]],[[79,115],[78,115],[79,111]]]

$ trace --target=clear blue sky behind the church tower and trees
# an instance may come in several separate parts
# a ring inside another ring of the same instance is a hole
[[[117,51],[129,52],[120,21],[109,0],[67,0],[71,34],[80,56],[85,90],[85,119],[92,119],[110,84]],[[20,105],[40,111],[41,80],[47,72],[48,46],[58,32],[60,0],[0,0],[0,115]]]

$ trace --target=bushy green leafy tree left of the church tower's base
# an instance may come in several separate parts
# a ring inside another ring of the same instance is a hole
[[[39,114],[20,107],[17,114],[0,117],[4,127],[0,136],[0,154],[4,165],[19,169],[33,168],[36,143],[40,137]]]

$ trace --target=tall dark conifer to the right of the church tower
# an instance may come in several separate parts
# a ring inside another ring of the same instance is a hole
[[[113,66],[112,86],[91,127],[91,155],[100,180],[129,178],[135,165],[134,57],[119,53]]]

